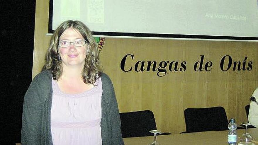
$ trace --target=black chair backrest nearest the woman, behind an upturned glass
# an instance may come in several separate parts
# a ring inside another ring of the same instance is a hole
[[[149,131],[157,129],[154,114],[150,110],[119,114],[123,138],[152,136],[153,134]]]

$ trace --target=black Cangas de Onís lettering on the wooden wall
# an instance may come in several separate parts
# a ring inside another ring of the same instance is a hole
[[[213,68],[213,62],[204,60],[204,55],[200,55],[201,59],[200,61],[195,62],[194,64],[194,71],[211,71]],[[220,60],[220,69],[222,71],[228,71],[232,69],[232,71],[245,71],[245,70],[252,70],[252,61],[247,61],[247,57],[243,59],[243,61],[233,61],[232,57],[230,55],[225,55]],[[120,62],[120,68],[124,72],[156,72],[157,76],[162,77],[165,76],[170,72],[184,72],[186,71],[186,61],[161,61],[159,62],[158,66],[156,61],[135,61],[134,64],[130,64],[129,66],[126,66],[126,61],[134,60],[133,54],[126,54],[121,62]],[[146,63],[145,63],[146,62]],[[180,63],[180,65],[179,65]],[[128,65],[128,64],[127,64]],[[134,69],[133,69],[134,67]]]

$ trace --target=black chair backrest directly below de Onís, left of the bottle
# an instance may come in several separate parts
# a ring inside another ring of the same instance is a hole
[[[228,130],[228,118],[223,107],[187,108],[184,110],[186,132]]]

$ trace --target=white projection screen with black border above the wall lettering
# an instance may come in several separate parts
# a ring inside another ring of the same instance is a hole
[[[50,0],[49,33],[65,20],[94,35],[258,40],[257,0]]]

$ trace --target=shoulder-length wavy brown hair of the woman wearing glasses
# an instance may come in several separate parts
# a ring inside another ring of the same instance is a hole
[[[89,28],[81,21],[68,20],[57,27],[51,37],[50,45],[46,54],[46,63],[43,66],[42,70],[51,70],[54,80],[59,80],[61,78],[63,68],[61,63],[62,60],[59,59],[60,53],[58,49],[58,43],[59,37],[68,28],[78,30],[83,38],[86,40],[86,43],[88,43],[89,45],[84,68],[82,70],[82,79],[86,84],[93,84],[101,76],[101,71],[103,70],[103,67],[99,62],[99,50],[94,40],[94,37],[92,36]]]

